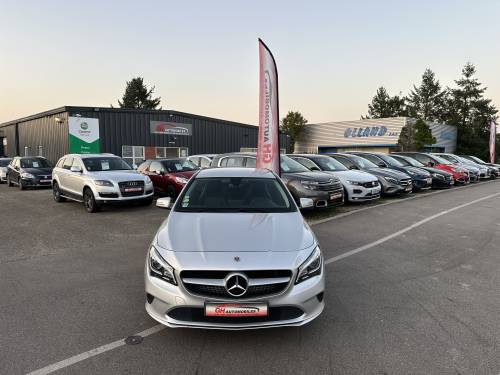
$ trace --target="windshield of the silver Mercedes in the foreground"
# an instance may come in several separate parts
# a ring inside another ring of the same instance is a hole
[[[275,178],[196,178],[179,197],[181,212],[292,212],[296,208]]]

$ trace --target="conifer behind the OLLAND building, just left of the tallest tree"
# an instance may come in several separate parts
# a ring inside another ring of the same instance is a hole
[[[424,121],[440,122],[445,113],[447,91],[441,89],[434,72],[426,69],[419,87],[413,85],[408,95],[407,107],[410,117]]]

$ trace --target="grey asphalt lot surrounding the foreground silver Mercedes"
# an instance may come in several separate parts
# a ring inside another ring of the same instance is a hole
[[[326,310],[257,331],[162,329],[148,317],[145,254],[168,211],[91,215],[50,190],[5,185],[0,202],[1,374],[57,363],[57,374],[500,373],[500,181],[314,225]],[[122,341],[143,331],[139,344]]]

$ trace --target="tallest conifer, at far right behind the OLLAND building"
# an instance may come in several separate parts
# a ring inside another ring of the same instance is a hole
[[[498,110],[484,98],[486,87],[475,77],[476,67],[467,63],[456,88],[450,89],[446,122],[458,130],[457,153],[488,156],[489,126],[497,119]]]

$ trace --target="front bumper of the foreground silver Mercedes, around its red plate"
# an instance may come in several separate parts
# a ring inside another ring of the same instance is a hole
[[[169,284],[149,275],[146,263],[146,311],[156,321],[168,327],[205,329],[259,329],[283,326],[301,326],[317,318],[324,309],[323,292],[325,271],[298,285],[294,284],[296,273],[290,285],[280,295],[252,300],[214,300],[190,294],[179,282]],[[266,302],[269,315],[266,318],[212,318],[204,315],[205,302]]]

